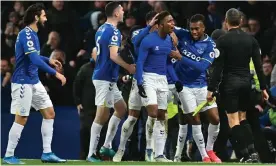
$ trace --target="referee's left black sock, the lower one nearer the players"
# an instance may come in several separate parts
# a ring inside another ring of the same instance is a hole
[[[232,127],[232,136],[234,140],[237,141],[237,146],[244,158],[249,158],[249,153],[247,149],[247,144],[244,135],[244,127],[241,125],[236,125]]]

